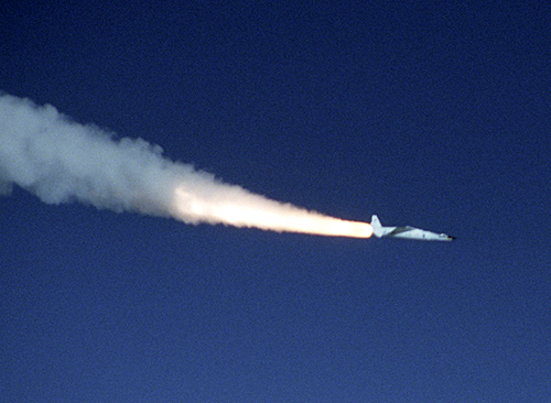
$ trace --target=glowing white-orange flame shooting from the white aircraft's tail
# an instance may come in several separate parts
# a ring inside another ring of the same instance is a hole
[[[329,237],[369,238],[368,222],[347,221],[281,204],[231,187],[224,195],[203,195],[180,187],[175,192],[175,215],[187,222],[224,224],[278,232],[302,232]]]

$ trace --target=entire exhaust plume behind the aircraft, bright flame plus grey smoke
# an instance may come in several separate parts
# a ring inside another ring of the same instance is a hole
[[[369,238],[367,222],[328,217],[228,185],[170,161],[142,139],[114,139],[50,105],[0,94],[0,193],[13,184],[44,203],[263,230]]]

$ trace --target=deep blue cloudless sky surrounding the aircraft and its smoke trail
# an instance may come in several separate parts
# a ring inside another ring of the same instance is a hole
[[[452,243],[0,198],[7,402],[548,402],[551,6],[0,8],[0,89]],[[0,146],[2,144],[0,143]]]

